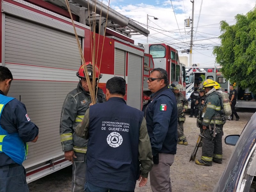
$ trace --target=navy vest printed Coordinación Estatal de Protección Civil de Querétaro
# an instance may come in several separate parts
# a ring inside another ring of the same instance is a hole
[[[87,181],[133,191],[140,174],[138,144],[143,112],[113,97],[90,106]]]

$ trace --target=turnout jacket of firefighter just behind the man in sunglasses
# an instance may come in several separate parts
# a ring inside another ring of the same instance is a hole
[[[185,113],[183,112],[183,109],[185,109],[186,111],[188,110],[188,100],[184,97],[184,95],[181,92],[175,93],[175,97],[178,106],[178,119],[179,121],[185,121],[186,116]]]

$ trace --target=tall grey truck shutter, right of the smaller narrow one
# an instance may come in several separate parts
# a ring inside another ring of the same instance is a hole
[[[128,55],[128,81],[127,105],[141,108],[142,91],[142,57],[129,53]]]

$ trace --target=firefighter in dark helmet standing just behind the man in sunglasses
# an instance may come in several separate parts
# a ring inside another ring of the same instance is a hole
[[[183,124],[186,120],[185,111],[188,110],[188,100],[180,92],[182,85],[178,82],[173,82],[171,84],[171,89],[176,97],[177,106],[178,106],[178,144],[188,145],[186,136],[184,135]]]

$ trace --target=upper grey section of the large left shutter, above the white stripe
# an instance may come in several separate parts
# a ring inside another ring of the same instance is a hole
[[[81,65],[73,35],[9,15],[5,17],[5,62],[64,69]]]

